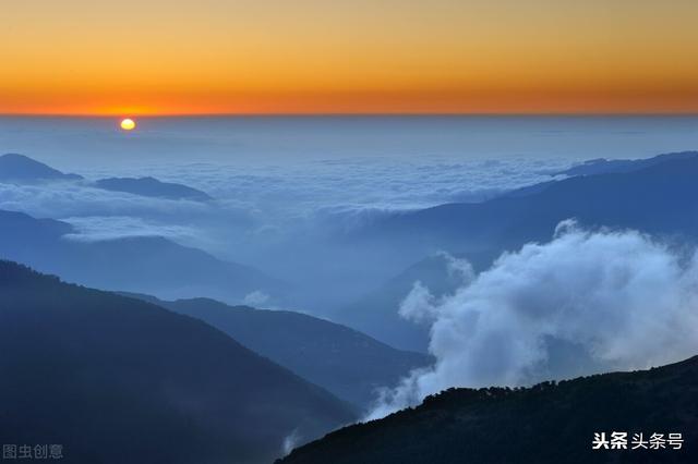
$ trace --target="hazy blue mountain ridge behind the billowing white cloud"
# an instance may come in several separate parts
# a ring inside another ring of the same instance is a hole
[[[533,188],[518,196],[395,213],[345,237],[342,245],[397,249],[400,257],[414,261],[435,251],[447,251],[468,257],[483,269],[504,251],[551,240],[555,227],[569,218],[589,228],[629,228],[696,241],[698,156],[667,155],[653,159],[660,161],[630,172],[549,182],[538,191]],[[441,279],[447,279],[441,272]],[[412,283],[429,273],[425,269],[421,273],[407,272],[341,308],[336,320],[396,347],[423,350],[428,328],[404,321],[397,308]],[[438,293],[438,279],[426,278],[431,282],[424,283]]]

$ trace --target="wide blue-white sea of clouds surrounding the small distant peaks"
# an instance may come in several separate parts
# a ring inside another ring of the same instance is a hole
[[[147,164],[85,169],[86,181],[0,183],[0,209],[72,223],[75,240],[161,235],[222,255],[251,241],[308,228],[351,228],[395,210],[481,202],[550,180],[564,160],[432,158],[309,160],[290,164]],[[148,198],[95,188],[108,176],[153,175],[200,188],[215,200]]]

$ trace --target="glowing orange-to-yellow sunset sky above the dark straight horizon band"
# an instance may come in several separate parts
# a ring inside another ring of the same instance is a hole
[[[698,1],[26,0],[0,113],[698,112]]]

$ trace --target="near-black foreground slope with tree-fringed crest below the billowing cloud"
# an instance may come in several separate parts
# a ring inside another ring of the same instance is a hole
[[[527,389],[450,389],[421,406],[298,448],[288,464],[696,463],[698,357],[651,370]],[[592,450],[594,432],[627,450]],[[633,434],[683,434],[683,448],[630,450]]]

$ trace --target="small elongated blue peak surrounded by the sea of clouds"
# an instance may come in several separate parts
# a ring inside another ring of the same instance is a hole
[[[182,184],[160,182],[155,178],[109,178],[94,183],[98,188],[115,192],[125,192],[141,196],[152,196],[169,199],[191,199],[207,202],[213,199],[205,192]]]

